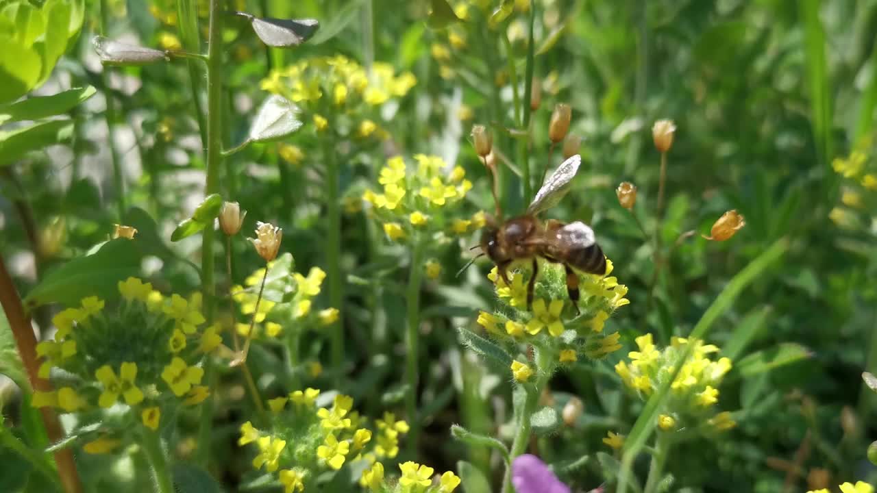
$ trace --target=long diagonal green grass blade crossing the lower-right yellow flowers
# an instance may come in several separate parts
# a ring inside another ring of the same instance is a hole
[[[773,245],[771,245],[771,247],[767,248],[764,253],[760,254],[743,270],[738,272],[738,274],[731,279],[731,282],[728,282],[728,284],[725,285],[724,289],[719,293],[713,303],[709,305],[709,308],[703,313],[703,316],[697,322],[697,325],[695,325],[694,330],[691,331],[691,334],[688,337],[691,339],[703,339],[707,332],[709,332],[709,328],[713,323],[722,316],[725,311],[731,308],[731,304],[734,303],[734,300],[737,299],[740,292],[761,275],[766,268],[773,265],[775,261],[778,261],[782,254],[786,252],[787,248],[788,239],[778,239]],[[637,418],[637,422],[634,423],[630,435],[625,439],[621,474],[618,479],[618,493],[624,493],[628,484],[631,482],[631,466],[633,460],[645,446],[645,440],[647,440],[652,434],[652,431],[654,431],[660,407],[669,396],[670,384],[674,382],[682,365],[688,360],[691,347],[691,345],[686,347],[686,350],[680,355],[679,360],[676,361],[670,377],[661,382],[660,388],[645,403],[645,407],[643,408],[642,413],[640,413],[639,418]]]

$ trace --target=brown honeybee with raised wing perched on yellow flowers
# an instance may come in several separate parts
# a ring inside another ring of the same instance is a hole
[[[509,283],[506,269],[513,261],[532,261],[533,274],[527,283],[528,310],[533,304],[538,257],[563,264],[567,271],[567,294],[576,312],[579,312],[579,277],[575,270],[595,275],[606,274],[606,257],[597,245],[590,226],[581,221],[564,224],[556,219],[548,219],[543,225],[538,219],[540,212],[551,209],[567,194],[580,165],[581,156],[578,154],[563,161],[545,180],[523,215],[504,222],[502,218],[488,218],[481,232],[481,252],[496,264],[496,271],[506,284]]]

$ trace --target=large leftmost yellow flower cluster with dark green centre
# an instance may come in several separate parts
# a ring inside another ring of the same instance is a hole
[[[39,375],[48,378],[52,368],[61,368],[78,376],[79,383],[67,379],[60,389],[35,392],[33,404],[76,412],[121,403],[157,430],[167,405],[175,400],[198,404],[210,395],[201,385],[204,372],[198,364],[222,337],[217,326],[202,327],[200,294],[165,298],[136,277],[119,282],[118,291],[117,311],[105,310],[98,297],[86,297],[79,307],[54,316],[53,339],[37,345],[43,360]],[[156,347],[155,341],[163,344]]]

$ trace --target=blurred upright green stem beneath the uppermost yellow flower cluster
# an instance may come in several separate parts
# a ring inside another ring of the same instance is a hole
[[[327,129],[323,139],[323,158],[326,166],[326,216],[329,231],[326,232],[326,271],[329,277],[329,304],[339,311],[338,320],[332,325],[332,369],[337,382],[344,374],[344,302],[341,282],[341,206],[339,200],[339,167],[335,159],[335,139],[332,129]]]

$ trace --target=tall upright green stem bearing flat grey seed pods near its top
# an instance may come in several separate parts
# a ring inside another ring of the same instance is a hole
[[[222,111],[223,111],[223,20],[225,11],[222,0],[210,0],[210,32],[207,52],[207,177],[204,195],[219,192],[219,169],[222,166]],[[213,322],[216,306],[216,285],[213,278],[213,239],[216,231],[212,225],[204,228],[201,245],[201,289],[203,292],[204,318]],[[216,378],[216,370],[210,358],[204,361],[204,375],[210,388]],[[213,431],[213,399],[201,405],[198,428],[197,459],[206,465],[210,454],[210,435]]]

